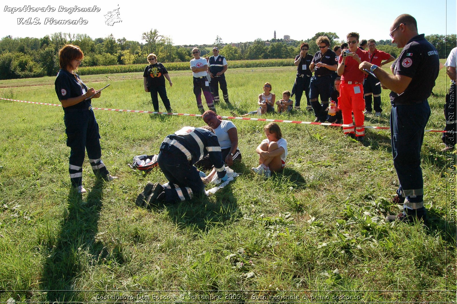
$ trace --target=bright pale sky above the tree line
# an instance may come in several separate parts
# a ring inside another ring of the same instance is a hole
[[[174,45],[212,44],[219,36],[223,43],[263,40],[289,35],[305,40],[317,32],[335,32],[345,39],[348,32],[359,32],[360,39],[388,39],[393,20],[404,13],[414,16],[419,33],[455,34],[456,0],[326,0],[305,1],[218,1],[214,5],[191,1],[2,1],[0,38],[37,37],[54,32],[87,34],[92,39],[113,34],[145,43],[143,32],[157,29]],[[36,4],[39,3],[39,4]],[[75,3],[77,7],[74,6]],[[28,11],[23,11],[24,6]],[[304,8],[306,6],[306,8]],[[45,11],[33,11],[44,8]],[[92,12],[77,11],[91,8]],[[22,9],[22,11],[21,11]],[[52,11],[54,9],[54,11]],[[211,11],[223,11],[212,14]],[[60,10],[60,11],[59,11]],[[76,24],[53,24],[58,21]],[[32,24],[29,24],[32,23]]]

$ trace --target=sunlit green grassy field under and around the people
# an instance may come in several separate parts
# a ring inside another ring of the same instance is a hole
[[[197,113],[190,72],[170,76],[175,112]],[[254,110],[266,81],[277,97],[292,90],[295,69],[229,69],[226,77],[233,107],[217,110],[230,116]],[[111,84],[94,107],[152,111],[142,78],[82,77],[96,89]],[[2,80],[0,97],[58,103],[53,81]],[[444,126],[447,85],[443,69],[427,129]],[[387,91],[382,98],[383,116],[366,125],[388,126]],[[455,154],[441,152],[441,133],[426,133],[422,147],[427,222],[390,224],[384,216],[399,209],[389,203],[398,180],[388,131],[368,129],[362,145],[340,128],[280,124],[287,165],[264,180],[250,167],[265,123],[236,120],[241,175],[213,196],[147,210],[135,198],[165,177],[127,164],[202,119],[95,115],[102,159],[119,179],[97,180],[86,158],[81,197],[69,187],[62,109],[0,101],[0,302],[455,302]]]

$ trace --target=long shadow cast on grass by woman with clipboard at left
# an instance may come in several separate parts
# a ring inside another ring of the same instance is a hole
[[[46,301],[73,302],[78,298],[74,281],[87,266],[83,257],[98,256],[105,251],[101,242],[96,242],[97,224],[100,215],[104,181],[97,180],[87,193],[86,201],[77,189],[72,188],[64,214],[62,229],[44,261],[42,290],[48,290]]]

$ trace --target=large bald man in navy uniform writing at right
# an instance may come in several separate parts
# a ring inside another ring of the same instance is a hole
[[[403,14],[390,27],[392,43],[403,48],[389,75],[376,65],[362,62],[360,69],[370,70],[391,90],[390,134],[393,166],[399,178],[395,203],[403,201],[403,213],[389,215],[386,220],[412,221],[425,218],[424,180],[420,168],[420,149],[425,125],[430,117],[427,98],[435,86],[439,72],[436,48],[418,34],[413,16]]]

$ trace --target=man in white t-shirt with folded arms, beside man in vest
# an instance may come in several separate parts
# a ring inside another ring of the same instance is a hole
[[[207,80],[208,64],[206,59],[200,57],[200,50],[198,48],[192,49],[194,59],[191,60],[191,70],[194,77],[194,94],[197,99],[198,110],[203,114],[205,109],[202,105],[202,91],[205,96],[206,104],[210,110],[216,112],[214,107],[213,96],[209,90],[209,81]]]

